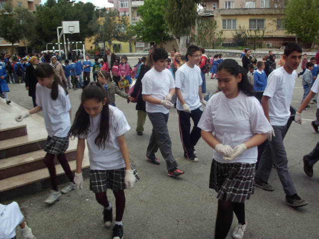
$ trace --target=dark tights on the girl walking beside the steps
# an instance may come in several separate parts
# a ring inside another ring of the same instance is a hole
[[[55,165],[54,165],[54,161],[53,161],[54,156],[55,156],[54,154],[46,153],[43,161],[44,161],[45,165],[47,166],[47,168],[49,169],[52,189],[55,191],[58,191],[58,185],[57,185],[56,173],[55,173]],[[73,176],[73,173],[71,171],[70,165],[69,165],[68,161],[66,160],[65,153],[57,155],[57,158],[58,158],[66,176],[68,176],[70,182],[73,182],[74,176]]]

